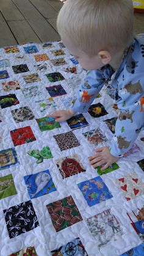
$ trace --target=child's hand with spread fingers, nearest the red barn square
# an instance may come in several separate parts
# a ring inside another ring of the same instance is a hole
[[[90,160],[90,165],[92,165],[94,168],[105,164],[101,168],[101,170],[104,170],[109,167],[110,164],[117,162],[119,159],[117,156],[113,156],[110,154],[109,147],[97,148],[95,151],[98,152],[96,153],[96,155],[88,157],[88,159]]]

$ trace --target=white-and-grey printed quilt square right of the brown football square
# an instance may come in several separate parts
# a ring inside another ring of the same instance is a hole
[[[123,235],[120,222],[111,210],[102,211],[86,220],[88,229],[98,244],[99,249],[107,246],[111,241],[116,241]]]

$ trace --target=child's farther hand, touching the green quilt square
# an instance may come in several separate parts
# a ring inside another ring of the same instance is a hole
[[[62,122],[70,119],[71,117],[73,117],[74,114],[75,114],[74,111],[72,111],[71,109],[68,109],[68,110],[55,111],[49,114],[48,116],[54,117],[54,119],[56,119],[56,122]]]

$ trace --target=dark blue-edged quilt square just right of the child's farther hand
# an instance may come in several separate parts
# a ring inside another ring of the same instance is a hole
[[[71,130],[78,129],[81,127],[85,127],[89,125],[87,120],[85,119],[84,115],[79,114],[75,115],[74,117],[71,117],[67,120],[68,125],[70,126]]]

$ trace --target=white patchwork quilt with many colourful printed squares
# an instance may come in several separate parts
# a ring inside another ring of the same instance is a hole
[[[106,88],[85,114],[49,116],[85,73],[62,42],[0,49],[1,256],[144,255],[144,133],[103,171],[88,156],[115,133]]]

